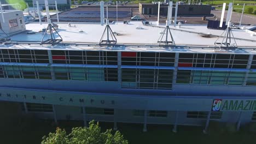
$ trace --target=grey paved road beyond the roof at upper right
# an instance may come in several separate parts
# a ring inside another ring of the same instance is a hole
[[[211,11],[212,14],[216,15],[216,18],[219,18],[220,19],[220,16],[222,15],[222,11],[221,10],[212,10]],[[225,11],[225,16],[224,18],[226,18],[226,14],[228,13],[228,11]],[[232,21],[240,21],[240,15],[241,13],[236,13],[236,12],[233,12],[232,13],[232,18],[231,20]],[[242,16],[242,24],[244,25],[256,25],[256,16],[254,15],[248,15],[248,14],[243,14]]]

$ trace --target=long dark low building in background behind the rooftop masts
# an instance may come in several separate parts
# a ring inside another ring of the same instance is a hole
[[[172,8],[172,14],[175,13],[175,5]],[[211,5],[194,5],[194,4],[179,4],[178,15],[211,15]],[[160,14],[167,15],[168,4],[160,4]],[[158,14],[158,3],[139,3],[139,14]]]

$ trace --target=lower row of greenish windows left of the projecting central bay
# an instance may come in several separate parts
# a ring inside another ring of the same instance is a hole
[[[118,81],[117,68],[53,67],[56,80]],[[0,77],[52,79],[50,67],[1,65]]]

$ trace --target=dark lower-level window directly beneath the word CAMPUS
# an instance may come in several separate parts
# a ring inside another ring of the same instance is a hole
[[[83,107],[81,107],[83,113]],[[114,109],[102,109],[97,107],[85,107],[86,114],[89,115],[114,115]]]

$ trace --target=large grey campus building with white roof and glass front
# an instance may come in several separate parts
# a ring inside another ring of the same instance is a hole
[[[100,23],[58,25],[60,43],[44,39],[48,23],[37,22],[26,24],[32,32],[2,42],[1,101],[55,122],[95,119],[115,129],[125,122],[144,131],[152,123],[206,130],[212,121],[239,128],[256,119],[256,41],[249,30],[236,29],[237,46],[223,48],[214,45],[223,31],[170,26],[175,45],[159,45],[164,25],[119,22],[109,25],[117,44],[104,45]]]

